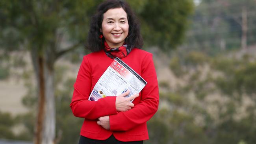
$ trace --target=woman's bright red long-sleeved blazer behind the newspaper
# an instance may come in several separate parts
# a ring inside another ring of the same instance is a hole
[[[133,101],[134,107],[126,112],[117,112],[116,96],[107,96],[98,101],[89,101],[89,95],[96,82],[112,63],[103,50],[83,57],[74,83],[70,107],[75,116],[84,118],[80,135],[96,140],[106,140],[112,134],[120,141],[147,140],[146,122],[156,113],[159,103],[158,81],[152,54],[134,48],[122,61],[134,69],[147,85]],[[109,115],[110,130],[96,122],[99,117]]]

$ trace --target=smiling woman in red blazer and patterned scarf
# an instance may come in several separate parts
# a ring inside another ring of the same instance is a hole
[[[70,107],[84,118],[79,144],[142,144],[148,139],[146,122],[158,109],[159,93],[152,54],[140,50],[143,41],[139,24],[126,2],[107,0],[92,17]],[[107,96],[89,101],[89,95],[104,71],[119,57],[134,69],[147,85],[129,98]],[[132,103],[130,100],[134,99]]]

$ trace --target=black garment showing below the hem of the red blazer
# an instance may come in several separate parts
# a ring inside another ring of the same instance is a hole
[[[78,144],[143,144],[143,140],[134,142],[121,142],[117,140],[113,135],[111,135],[106,140],[94,140],[91,138],[80,136]]]

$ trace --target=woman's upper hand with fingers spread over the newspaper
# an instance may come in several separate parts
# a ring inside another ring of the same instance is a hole
[[[127,90],[126,92],[120,94],[117,96],[115,100],[115,108],[117,111],[128,111],[134,107],[134,104],[131,103],[130,101],[137,98],[139,94],[134,94],[130,96],[129,98],[124,98],[130,93],[130,90]]]

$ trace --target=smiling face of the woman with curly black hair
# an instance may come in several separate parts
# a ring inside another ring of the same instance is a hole
[[[109,9],[103,14],[101,32],[110,48],[122,46],[129,32],[127,14],[122,8]]]

